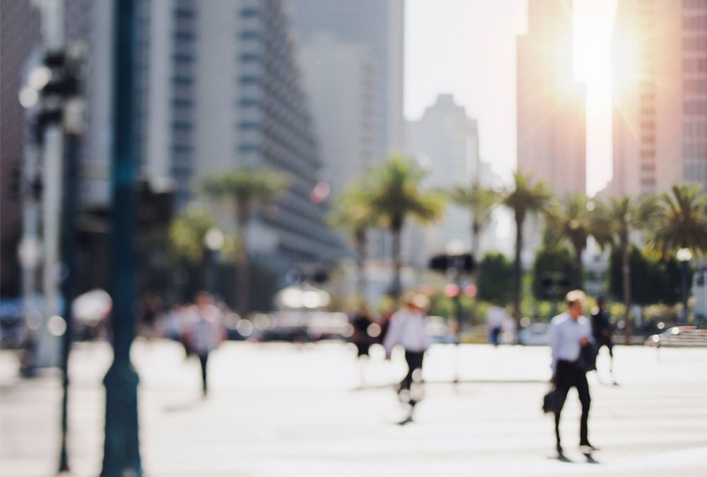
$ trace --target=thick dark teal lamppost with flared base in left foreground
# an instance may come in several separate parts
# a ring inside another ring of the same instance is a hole
[[[142,476],[138,440],[138,375],[130,362],[135,335],[134,169],[137,157],[135,119],[135,0],[114,0],[112,298],[113,363],[105,384],[105,445],[101,477]]]

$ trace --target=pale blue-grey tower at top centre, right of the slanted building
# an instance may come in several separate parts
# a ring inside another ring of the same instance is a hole
[[[404,151],[404,0],[286,0],[303,51],[325,179],[334,196],[370,164]],[[385,261],[390,240],[369,237]]]

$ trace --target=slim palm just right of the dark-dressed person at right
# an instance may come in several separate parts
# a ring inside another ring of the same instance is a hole
[[[653,211],[653,197],[641,201],[629,196],[612,197],[608,204],[597,202],[594,211],[594,236],[602,244],[618,245],[621,254],[621,288],[624,298],[624,342],[631,342],[631,263],[629,261],[629,235],[638,230]]]

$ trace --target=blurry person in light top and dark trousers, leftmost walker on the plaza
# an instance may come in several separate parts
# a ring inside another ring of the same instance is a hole
[[[190,318],[188,331],[189,348],[199,358],[201,389],[204,392],[204,397],[206,397],[208,392],[206,369],[209,353],[221,343],[225,336],[223,316],[221,311],[214,305],[211,295],[206,292],[200,292],[197,295],[196,305],[192,307]]]

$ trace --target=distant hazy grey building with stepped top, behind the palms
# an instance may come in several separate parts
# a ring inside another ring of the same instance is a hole
[[[479,160],[479,131],[475,119],[464,107],[455,104],[452,95],[440,95],[417,121],[407,122],[408,151],[427,170],[425,185],[431,189],[449,190],[453,186],[470,187],[474,183],[489,186],[490,173]],[[469,250],[471,244],[469,209],[449,204],[443,220],[428,230],[428,257],[444,252],[452,240],[460,240]]]

